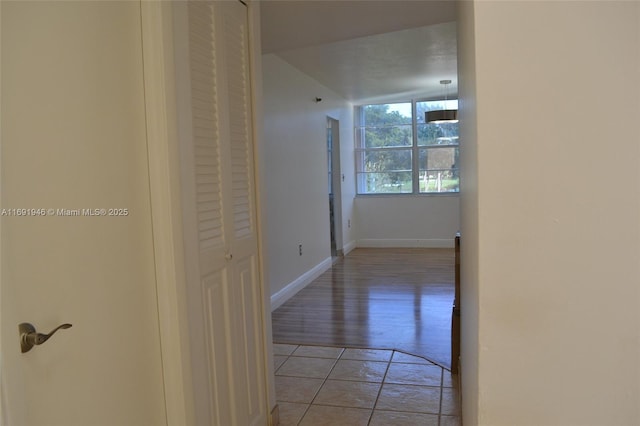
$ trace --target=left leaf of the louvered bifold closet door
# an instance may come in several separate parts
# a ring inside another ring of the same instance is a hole
[[[186,158],[183,215],[196,421],[233,424],[232,307],[225,259],[230,216],[224,201],[225,125],[219,105],[216,10],[213,2],[177,2],[174,14],[178,116],[183,119],[179,131]]]

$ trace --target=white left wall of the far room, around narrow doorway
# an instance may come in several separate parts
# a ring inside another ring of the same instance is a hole
[[[327,116],[340,121],[343,243],[354,245],[353,108],[274,54],[264,55],[261,176],[273,296],[299,288],[331,264]],[[315,98],[322,102],[315,102]],[[298,245],[302,244],[302,256]],[[280,293],[279,293],[280,292]]]

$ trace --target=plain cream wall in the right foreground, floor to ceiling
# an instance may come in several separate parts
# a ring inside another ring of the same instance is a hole
[[[464,423],[640,424],[640,3],[462,3]]]

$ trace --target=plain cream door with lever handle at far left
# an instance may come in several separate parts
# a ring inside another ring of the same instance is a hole
[[[164,425],[140,4],[0,8],[1,420]]]

